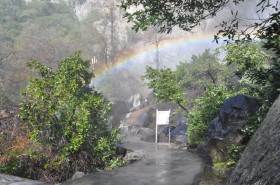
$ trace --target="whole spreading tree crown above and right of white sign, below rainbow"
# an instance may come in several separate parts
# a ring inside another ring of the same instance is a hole
[[[210,84],[224,84],[233,76],[228,67],[220,63],[216,53],[209,49],[200,55],[192,55],[191,59],[191,62],[181,62],[175,71],[146,68],[142,78],[148,80],[147,85],[153,89],[158,101],[177,103],[187,111],[186,96],[190,105]]]

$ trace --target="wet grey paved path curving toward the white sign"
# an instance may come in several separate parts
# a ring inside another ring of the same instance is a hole
[[[189,185],[202,170],[202,160],[186,150],[129,138],[124,147],[147,156],[125,167],[88,174],[61,185]]]

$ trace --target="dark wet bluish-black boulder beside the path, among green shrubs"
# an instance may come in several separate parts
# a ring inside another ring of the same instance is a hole
[[[212,161],[224,161],[230,145],[242,145],[245,135],[241,129],[249,116],[259,108],[257,100],[237,95],[226,100],[219,114],[208,126],[209,156]]]

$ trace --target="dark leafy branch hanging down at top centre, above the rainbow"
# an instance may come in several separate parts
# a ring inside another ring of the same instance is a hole
[[[239,2],[241,0],[236,0]],[[171,32],[174,26],[190,31],[200,21],[216,15],[228,1],[149,1],[125,0],[121,8],[126,11],[124,17],[133,22],[136,31],[146,30],[149,26],[159,26],[161,32]],[[132,7],[136,11],[131,11]]]

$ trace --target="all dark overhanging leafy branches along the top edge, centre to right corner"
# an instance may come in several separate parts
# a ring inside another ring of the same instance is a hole
[[[121,8],[126,11],[124,17],[134,23],[134,30],[146,30],[153,25],[159,26],[160,32],[170,33],[175,26],[185,31],[191,31],[201,21],[216,16],[230,3],[237,5],[242,2],[244,0],[124,0]],[[239,17],[238,10],[232,10],[231,18],[220,23],[219,35],[235,39],[235,36],[240,34],[251,39],[252,35],[264,35],[266,28],[271,27],[271,23],[278,24],[277,19],[280,15],[278,1],[258,0],[255,6],[256,15],[268,10],[268,16],[257,16],[254,21],[250,21]],[[215,38],[218,39],[219,36],[215,36]]]

